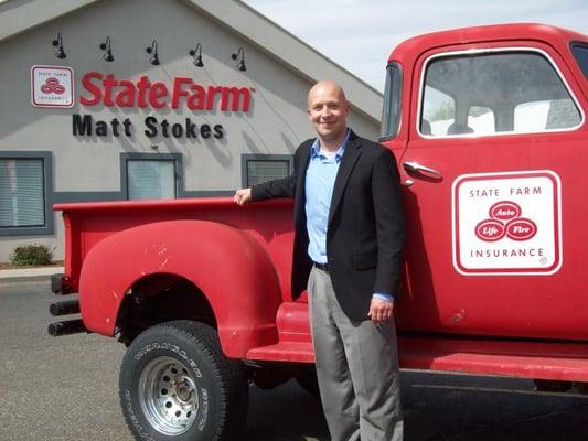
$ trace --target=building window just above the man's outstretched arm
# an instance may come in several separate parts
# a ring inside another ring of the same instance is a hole
[[[290,174],[291,157],[289,154],[244,154],[243,185],[255,184],[286,178]]]

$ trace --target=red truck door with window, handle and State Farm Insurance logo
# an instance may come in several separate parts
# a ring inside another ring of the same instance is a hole
[[[446,47],[411,82],[399,326],[588,338],[586,98],[562,56]]]

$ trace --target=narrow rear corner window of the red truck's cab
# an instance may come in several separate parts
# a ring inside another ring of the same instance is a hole
[[[386,87],[384,90],[384,106],[382,109],[382,127],[379,140],[386,141],[396,137],[400,125],[403,73],[397,63],[389,63],[386,67]]]

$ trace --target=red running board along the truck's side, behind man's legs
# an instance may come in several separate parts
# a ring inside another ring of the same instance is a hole
[[[588,344],[400,336],[406,369],[588,381]],[[310,342],[280,341],[256,347],[248,359],[314,363]]]

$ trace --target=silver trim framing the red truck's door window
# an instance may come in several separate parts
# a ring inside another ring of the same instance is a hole
[[[456,57],[456,56],[475,56],[480,54],[496,54],[496,53],[513,53],[513,52],[526,52],[526,53],[536,53],[541,56],[543,56],[547,63],[550,64],[552,68],[556,73],[556,75],[559,77],[559,80],[564,85],[566,92],[569,94],[570,98],[574,101],[574,105],[578,109],[578,112],[580,114],[580,121],[576,126],[566,127],[563,129],[546,129],[541,131],[528,131],[528,132],[517,132],[517,131],[500,131],[494,133],[460,133],[460,135],[439,135],[439,136],[431,136],[431,135],[424,135],[420,131],[420,121],[423,119],[423,107],[424,107],[424,100],[425,100],[425,78],[427,68],[429,66],[429,63],[432,61],[436,61],[437,58],[449,58],[449,57]],[[482,137],[504,137],[504,136],[521,136],[521,135],[537,135],[537,133],[554,133],[554,132],[567,132],[567,131],[575,131],[578,128],[580,128],[586,121],[586,114],[584,111],[584,108],[574,93],[573,88],[569,86],[569,83],[566,78],[566,76],[562,73],[562,69],[555,63],[554,58],[543,49],[539,47],[533,47],[533,46],[505,46],[505,47],[485,47],[485,49],[466,49],[461,51],[449,51],[449,52],[441,52],[441,53],[435,53],[429,56],[423,62],[423,66],[420,68],[420,78],[419,78],[419,90],[418,90],[418,100],[417,100],[417,114],[415,118],[415,129],[417,133],[426,139],[447,139],[447,138],[482,138]]]

